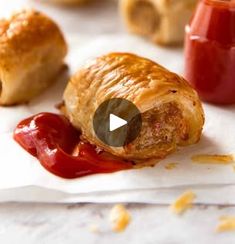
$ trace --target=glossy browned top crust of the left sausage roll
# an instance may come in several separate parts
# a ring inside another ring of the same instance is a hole
[[[36,10],[24,9],[9,19],[0,19],[1,59],[16,58],[16,55],[30,52],[33,47],[43,46],[53,39],[64,44],[66,53],[65,39],[57,24]]]

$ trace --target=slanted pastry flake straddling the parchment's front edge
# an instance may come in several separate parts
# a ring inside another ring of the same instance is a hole
[[[181,214],[192,207],[192,202],[195,198],[195,193],[192,191],[186,191],[176,199],[176,201],[170,206],[170,209],[173,213]]]

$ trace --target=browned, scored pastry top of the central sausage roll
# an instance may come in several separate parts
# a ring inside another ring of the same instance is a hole
[[[110,53],[87,63],[71,78],[70,84],[79,94],[80,102],[89,97],[91,104],[100,104],[122,97],[131,100],[141,112],[149,109],[150,100],[171,97],[176,92],[195,103],[198,101],[197,93],[181,76],[130,53]]]

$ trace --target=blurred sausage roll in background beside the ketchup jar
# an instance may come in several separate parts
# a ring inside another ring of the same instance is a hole
[[[130,32],[166,45],[184,40],[184,27],[197,0],[120,0],[120,11]]]

